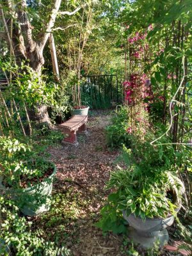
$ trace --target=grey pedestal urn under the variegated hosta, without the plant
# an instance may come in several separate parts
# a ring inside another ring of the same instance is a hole
[[[177,212],[180,210],[177,210]],[[146,218],[145,222],[141,218],[136,218],[134,214],[129,216],[123,211],[124,219],[129,223],[129,237],[134,243],[141,244],[143,248],[151,248],[154,243],[159,243],[159,247],[168,242],[169,236],[166,230],[170,227],[175,217],[173,215],[167,218]]]

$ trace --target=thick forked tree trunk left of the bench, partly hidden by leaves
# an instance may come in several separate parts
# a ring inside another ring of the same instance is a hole
[[[60,9],[61,0],[52,1],[51,12],[47,12],[49,13],[47,24],[42,27],[40,33],[36,36],[36,40],[33,37],[33,26],[31,26],[28,17],[27,1],[20,0],[15,5],[13,1],[10,0],[5,1],[5,3],[6,6],[4,6],[4,10],[6,15],[4,15],[3,6],[0,3],[1,17],[4,22],[4,28],[6,28],[8,45],[10,44],[15,62],[20,66],[23,60],[28,61],[29,67],[31,67],[34,72],[37,72],[41,79],[42,67],[44,65],[44,47],[52,32],[56,16]],[[74,12],[60,12],[60,15],[74,15],[74,13],[78,12],[80,9],[81,6],[77,7]],[[10,20],[12,20],[10,19],[10,13],[13,18],[11,37],[8,29]],[[47,112],[47,106],[40,104],[40,102],[36,103],[33,109],[29,109],[29,118],[34,122],[47,123],[49,127],[53,126],[51,125],[51,120]]]

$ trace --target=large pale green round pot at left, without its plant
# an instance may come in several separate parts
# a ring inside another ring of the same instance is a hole
[[[12,196],[20,211],[27,216],[36,216],[50,209],[52,180],[56,175],[56,166],[52,163],[53,172],[43,182],[24,189],[5,188],[0,180],[0,189]]]

